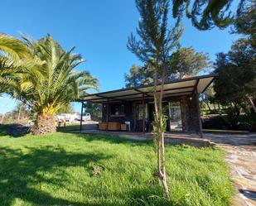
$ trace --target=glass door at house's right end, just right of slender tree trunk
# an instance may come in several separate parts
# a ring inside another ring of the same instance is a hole
[[[182,132],[181,102],[169,102],[169,129]]]

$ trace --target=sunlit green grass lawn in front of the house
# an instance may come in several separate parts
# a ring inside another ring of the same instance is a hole
[[[103,135],[0,132],[0,205],[229,205],[224,151],[167,146],[171,202],[151,142]]]

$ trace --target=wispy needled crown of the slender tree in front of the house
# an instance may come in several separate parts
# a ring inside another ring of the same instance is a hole
[[[178,46],[183,28],[179,22],[168,28],[169,2],[166,0],[136,0],[136,5],[140,14],[137,29],[140,40],[132,33],[128,38],[128,50],[146,64],[157,68],[165,65],[168,69],[170,52]]]

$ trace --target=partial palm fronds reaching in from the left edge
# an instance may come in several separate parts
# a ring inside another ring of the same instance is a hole
[[[13,36],[0,33],[0,93],[6,92],[17,72],[22,71],[23,60],[30,58],[26,44]]]

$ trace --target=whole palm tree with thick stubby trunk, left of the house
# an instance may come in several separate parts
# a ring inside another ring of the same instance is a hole
[[[89,72],[75,72],[85,60],[75,49],[65,51],[50,35],[39,41],[23,36],[34,64],[19,74],[17,85],[10,93],[37,113],[33,134],[56,132],[55,113],[66,104],[80,98],[87,89],[97,89],[98,80]]]

